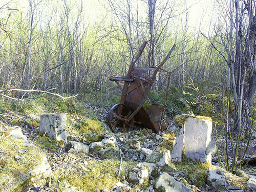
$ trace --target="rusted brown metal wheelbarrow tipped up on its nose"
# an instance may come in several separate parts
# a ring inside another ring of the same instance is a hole
[[[115,81],[122,91],[120,103],[112,106],[107,116],[108,124],[114,132],[117,131],[118,126],[123,126],[123,132],[125,132],[125,127],[133,127],[134,123],[151,129],[155,133],[159,131],[163,107],[151,105],[148,109],[144,109],[143,104],[154,84],[157,72],[167,61],[175,45],[157,68],[134,67],[146,44],[147,41],[144,41],[135,59],[131,62],[126,77],[110,77],[110,80]],[[118,81],[124,81],[123,88]]]

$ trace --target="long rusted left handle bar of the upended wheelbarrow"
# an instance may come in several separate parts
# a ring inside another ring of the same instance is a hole
[[[132,77],[132,72],[133,72],[134,65],[135,65],[136,61],[140,58],[144,48],[146,47],[146,44],[147,44],[147,41],[144,41],[142,46],[139,49],[138,54],[136,55],[134,60],[131,62],[131,65],[130,65],[129,70],[128,70],[127,75],[126,75],[126,78],[131,78]],[[124,81],[122,95],[121,95],[121,99],[120,99],[121,104],[124,104],[124,102],[125,102],[125,96],[126,96],[126,92],[128,90],[129,83],[130,83],[129,81]],[[121,114],[121,112],[122,112],[122,106],[120,106],[120,108],[118,109],[118,113]]]

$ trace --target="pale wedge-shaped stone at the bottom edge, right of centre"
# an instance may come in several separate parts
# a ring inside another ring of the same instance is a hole
[[[173,177],[167,173],[163,173],[156,181],[156,188],[163,187],[165,191],[172,192],[192,192],[190,188],[185,186],[183,183],[176,181]]]

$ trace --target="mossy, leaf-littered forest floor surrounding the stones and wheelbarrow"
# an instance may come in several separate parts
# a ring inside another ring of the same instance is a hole
[[[44,100],[44,98],[40,98],[40,102],[41,100]],[[236,175],[226,175],[226,184],[221,188],[211,186],[207,182],[207,170],[217,168],[225,170],[221,168],[221,164],[223,167],[226,166],[226,146],[229,153],[229,166],[231,167],[232,165],[233,158],[230,154],[235,141],[231,141],[228,138],[226,145],[224,131],[215,130],[215,133],[218,134],[216,138],[220,156],[218,157],[217,153],[212,156],[212,165],[200,164],[186,159],[183,163],[172,163],[168,166],[158,167],[155,171],[156,173],[152,173],[142,184],[139,184],[130,178],[130,173],[138,166],[138,163],[145,161],[146,157],[143,156],[143,153],[138,148],[132,147],[133,142],[139,141],[140,148],[150,151],[154,151],[158,146],[164,144],[168,148],[168,144],[164,143],[164,138],[168,135],[168,131],[163,131],[158,135],[151,130],[137,127],[128,133],[113,133],[106,125],[108,106],[96,106],[73,101],[66,103],[55,101],[53,103],[52,100],[45,100],[44,102],[42,105],[39,105],[38,101],[32,104],[30,102],[27,105],[24,103],[12,103],[12,105],[16,105],[16,111],[1,108],[0,126],[2,130],[0,131],[3,132],[5,127],[21,127],[29,142],[41,148],[46,154],[53,172],[52,177],[47,180],[44,186],[34,185],[24,191],[160,191],[155,188],[155,183],[161,173],[168,173],[177,181],[184,183],[191,191],[252,191],[246,185],[246,181],[248,180],[248,175],[256,177],[255,162],[251,165],[241,166],[239,169],[235,168],[236,171],[233,173]],[[55,142],[39,132],[39,115],[63,112],[68,116],[67,131],[69,140],[90,145],[94,142],[101,142],[103,139],[116,139],[118,148],[122,150],[123,162],[121,169],[119,168],[120,151],[114,144],[104,146],[104,152],[90,149],[88,155],[67,152],[65,145]],[[246,138],[239,142],[239,146],[243,148],[246,144]],[[249,143],[249,147],[253,146],[256,146],[255,132],[252,132]],[[245,158],[248,159],[249,156],[246,155]],[[1,171],[3,169],[0,168]],[[227,172],[225,171],[225,173]]]

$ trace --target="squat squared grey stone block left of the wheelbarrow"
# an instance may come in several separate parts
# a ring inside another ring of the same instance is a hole
[[[67,141],[67,115],[51,114],[40,115],[40,129],[42,133],[47,133],[48,137],[57,141]]]

